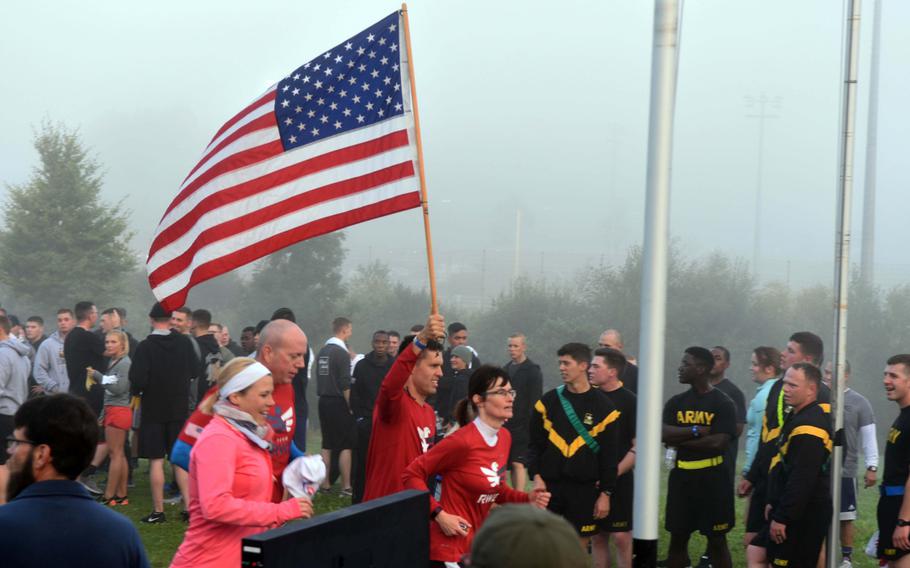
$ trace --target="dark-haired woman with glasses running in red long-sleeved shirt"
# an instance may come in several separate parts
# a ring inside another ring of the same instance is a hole
[[[442,476],[440,501],[430,497],[432,566],[459,562],[471,549],[474,532],[493,503],[526,503],[545,508],[550,494],[517,491],[505,484],[512,438],[502,428],[512,417],[515,391],[498,367],[479,367],[468,383],[468,404],[477,414],[469,424],[411,462],[403,479],[409,489],[427,490],[426,480]]]

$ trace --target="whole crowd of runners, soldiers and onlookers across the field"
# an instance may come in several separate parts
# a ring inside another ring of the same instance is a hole
[[[148,460],[152,497],[142,522],[168,522],[168,470],[183,503],[189,526],[173,566],[238,565],[243,537],[310,517],[313,498],[333,491],[336,478],[337,494],[353,503],[428,491],[432,566],[505,565],[490,563],[501,551],[493,552],[484,532],[506,534],[510,518],[574,535],[573,552],[555,541],[549,547],[563,550],[564,566],[632,565],[638,368],[617,330],[605,331],[594,349],[578,342],[559,348],[559,386],[544,391],[523,333],[503,338],[504,365],[483,364],[467,327],[447,326],[438,314],[404,335],[373,332],[366,354],[351,349],[353,323],[343,317],[318,349],[287,308],[244,328],[239,344],[205,309],[155,304],[148,318],[151,331],[137,341],[122,308],[62,308],[50,335],[42,318],[22,326],[0,309],[7,450],[0,500],[9,501],[0,507],[0,541],[7,550],[43,547],[22,565],[62,558],[56,543],[39,544],[29,532],[64,523],[47,519],[60,511],[86,519],[86,534],[94,524],[105,540],[119,535],[115,547],[80,544],[84,563],[147,565],[135,528],[111,511],[129,503],[137,458]],[[732,566],[727,535],[738,496],[748,499],[742,545],[750,567],[814,568],[834,514],[830,466],[841,444],[840,562],[849,567],[858,482],[878,483],[868,399],[846,389],[844,430],[835,435],[831,364],[811,332],[794,333],[781,351],[753,350],[751,400],[727,377],[730,361],[723,346],[686,349],[678,378],[688,388],[664,406],[664,564],[690,566],[697,531],[707,547],[696,564]],[[322,444],[308,456],[311,378]],[[903,567],[910,566],[910,355],[887,359],[883,383],[900,414],[885,448],[876,553]],[[737,467],[740,439],[745,459]],[[314,459],[318,468],[310,467]],[[304,466],[291,465],[298,463]],[[101,489],[95,475],[103,464]],[[290,483],[295,475],[303,478]],[[105,507],[91,503],[92,494]],[[539,548],[533,530],[509,534],[516,557]]]

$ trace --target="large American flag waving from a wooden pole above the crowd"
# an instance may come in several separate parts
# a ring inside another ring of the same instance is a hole
[[[231,118],[152,240],[165,309],[299,241],[420,206],[400,12],[318,55]]]

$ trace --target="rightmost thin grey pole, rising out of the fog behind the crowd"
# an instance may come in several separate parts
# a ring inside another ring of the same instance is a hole
[[[859,269],[860,276],[868,285],[875,281],[875,168],[878,153],[878,64],[882,35],[882,0],[875,0],[873,14],[869,118],[866,126],[866,172],[863,182],[863,248]]]

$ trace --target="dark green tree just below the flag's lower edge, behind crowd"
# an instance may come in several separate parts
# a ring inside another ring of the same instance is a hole
[[[343,241],[344,233],[330,233],[263,259],[242,295],[239,316],[244,325],[268,319],[284,306],[294,311],[297,323],[313,336],[310,343],[330,334],[332,319],[339,315],[338,302],[345,296]]]

